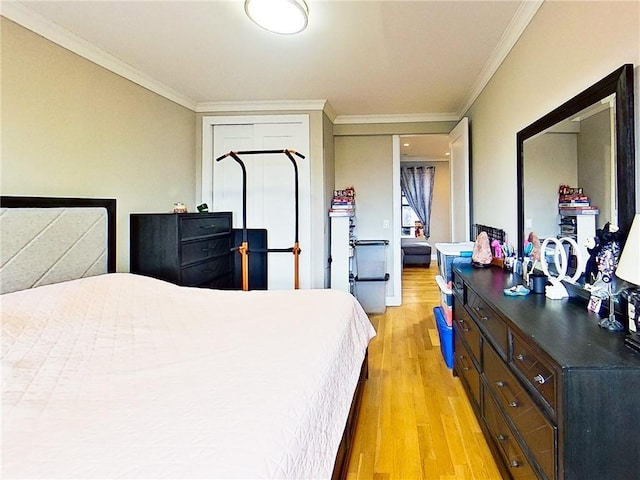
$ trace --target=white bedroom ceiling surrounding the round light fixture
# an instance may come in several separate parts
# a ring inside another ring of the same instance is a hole
[[[307,0],[298,35],[262,30],[243,0],[3,1],[2,14],[196,111],[327,100],[340,123],[459,118],[541,1]]]

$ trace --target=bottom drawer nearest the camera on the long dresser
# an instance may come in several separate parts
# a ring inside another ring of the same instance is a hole
[[[513,480],[538,479],[493,397],[484,395],[484,421]]]

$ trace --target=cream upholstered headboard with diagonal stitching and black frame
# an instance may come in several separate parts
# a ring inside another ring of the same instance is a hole
[[[115,272],[114,199],[0,197],[0,293]]]

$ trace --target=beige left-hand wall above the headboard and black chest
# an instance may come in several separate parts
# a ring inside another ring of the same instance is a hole
[[[129,214],[195,199],[195,113],[1,18],[3,195],[117,199]]]

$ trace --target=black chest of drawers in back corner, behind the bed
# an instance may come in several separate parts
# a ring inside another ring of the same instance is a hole
[[[190,287],[233,285],[231,212],[135,213],[132,273]]]

